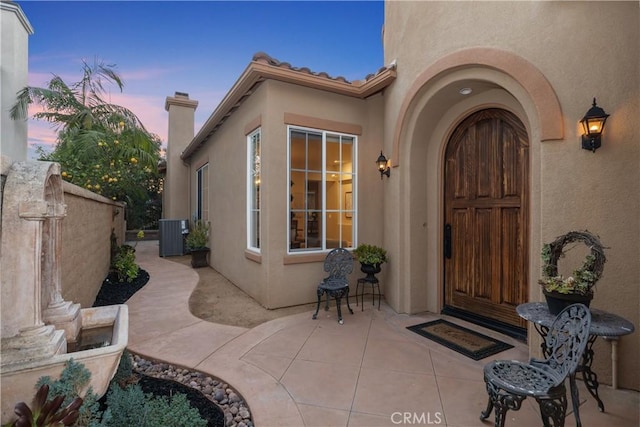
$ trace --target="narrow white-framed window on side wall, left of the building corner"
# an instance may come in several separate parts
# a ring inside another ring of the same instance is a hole
[[[260,129],[247,136],[247,248],[260,252]]]

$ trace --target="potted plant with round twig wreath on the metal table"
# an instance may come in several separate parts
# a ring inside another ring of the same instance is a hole
[[[590,253],[582,265],[565,278],[558,274],[558,260],[564,256],[565,247],[574,242],[586,244]],[[542,278],[538,283],[542,286],[549,312],[558,314],[564,307],[575,303],[588,307],[606,262],[604,247],[598,237],[588,231],[571,231],[545,244],[541,257]]]

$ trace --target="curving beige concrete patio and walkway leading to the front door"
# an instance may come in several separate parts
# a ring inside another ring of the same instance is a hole
[[[528,359],[527,346],[455,318],[514,348],[473,361],[406,329],[447,317],[380,311],[365,299],[344,325],[335,305],[280,318],[253,329],[214,324],[189,312],[198,274],[158,256],[158,242],[137,244],[137,260],[150,282],[128,302],[128,348],[147,358],[196,369],[232,385],[264,426],[488,426],[479,420],[487,403],[482,368],[488,360]],[[588,426],[639,425],[640,394],[601,385],[606,413],[580,386],[580,414]],[[573,414],[567,426],[575,425]],[[509,426],[539,426],[537,404],[527,399],[508,412]]]

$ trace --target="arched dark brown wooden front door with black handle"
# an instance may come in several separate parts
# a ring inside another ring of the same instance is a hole
[[[524,327],[515,307],[528,289],[525,127],[508,111],[478,111],[458,125],[445,156],[444,311]]]

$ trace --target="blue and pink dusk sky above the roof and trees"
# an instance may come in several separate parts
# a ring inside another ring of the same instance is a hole
[[[257,52],[348,80],[384,65],[381,0],[17,3],[35,31],[30,86],[45,86],[53,74],[78,81],[83,59],[115,64],[125,87],[112,88],[111,102],[163,142],[167,96],[187,92],[199,101],[197,132]],[[30,146],[54,141],[50,124],[29,122]]]

